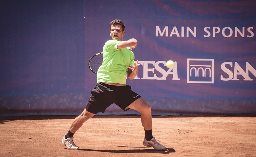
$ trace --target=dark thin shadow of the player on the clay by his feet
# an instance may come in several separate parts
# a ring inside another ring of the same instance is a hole
[[[141,148],[145,148],[145,147],[141,147]],[[152,149],[126,149],[126,150],[96,150],[96,149],[80,149],[80,150],[106,152],[106,153],[161,153],[161,154],[175,153],[175,150],[173,148],[166,148],[165,151],[157,151],[156,149],[153,149],[153,148]]]

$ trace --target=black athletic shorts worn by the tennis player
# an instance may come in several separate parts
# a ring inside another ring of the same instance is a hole
[[[104,113],[111,104],[116,104],[124,111],[132,102],[141,96],[131,90],[131,86],[112,86],[104,83],[97,83],[91,90],[90,99],[86,105],[86,111],[97,114]]]

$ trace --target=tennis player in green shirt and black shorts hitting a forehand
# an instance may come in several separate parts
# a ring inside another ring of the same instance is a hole
[[[95,114],[102,112],[115,103],[124,111],[129,109],[141,113],[141,123],[145,130],[143,145],[153,147],[156,150],[165,150],[152,135],[151,106],[136,92],[126,85],[126,76],[133,80],[137,75],[140,64],[134,63],[134,54],[130,49],[136,48],[137,40],[123,41],[125,25],[122,20],[113,20],[110,23],[110,35],[112,40],[103,47],[103,63],[97,73],[97,85],[91,90],[91,96],[81,115],[76,117],[69,131],[64,135],[62,144],[70,150],[79,149],[73,142],[74,133]],[[130,47],[128,49],[127,47]]]

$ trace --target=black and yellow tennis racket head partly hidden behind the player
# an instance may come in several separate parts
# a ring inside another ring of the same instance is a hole
[[[89,68],[93,73],[97,74],[99,67],[102,65],[102,59],[103,54],[100,52],[91,57],[89,60]]]

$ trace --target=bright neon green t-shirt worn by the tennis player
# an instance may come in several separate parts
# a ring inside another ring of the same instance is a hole
[[[97,73],[97,82],[126,84],[128,66],[133,65],[134,54],[128,48],[117,49],[120,41],[109,40],[103,47],[103,62]]]

